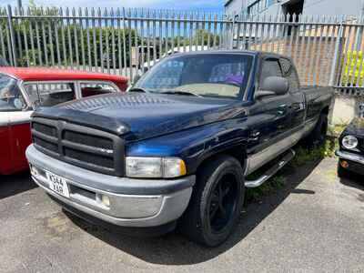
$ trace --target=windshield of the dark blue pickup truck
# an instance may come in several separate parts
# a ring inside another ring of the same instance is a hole
[[[234,98],[246,89],[252,59],[232,54],[170,57],[142,76],[134,87],[150,93]]]

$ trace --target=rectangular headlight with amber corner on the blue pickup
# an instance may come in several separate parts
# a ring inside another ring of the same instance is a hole
[[[126,157],[126,177],[172,178],[186,174],[185,162],[177,157]]]

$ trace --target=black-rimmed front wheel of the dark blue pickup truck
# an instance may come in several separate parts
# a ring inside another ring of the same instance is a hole
[[[227,240],[238,224],[244,202],[244,173],[234,157],[215,157],[197,172],[190,203],[180,229],[188,238],[207,247]]]

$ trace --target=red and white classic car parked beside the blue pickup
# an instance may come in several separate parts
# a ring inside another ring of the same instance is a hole
[[[127,79],[102,73],[53,68],[0,67],[0,175],[28,167],[30,115],[86,96],[125,91]]]

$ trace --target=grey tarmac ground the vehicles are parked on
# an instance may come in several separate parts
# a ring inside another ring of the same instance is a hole
[[[364,271],[364,179],[340,181],[333,158],[299,167],[287,187],[249,204],[213,249],[177,232],[113,234],[66,215],[27,173],[0,180],[0,272]]]

